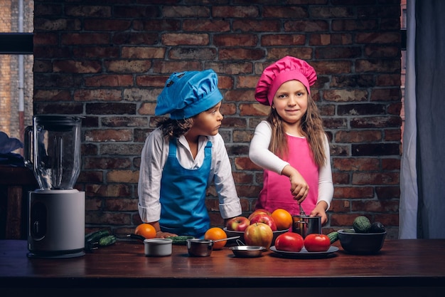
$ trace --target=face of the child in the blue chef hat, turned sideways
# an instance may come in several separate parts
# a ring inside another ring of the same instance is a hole
[[[223,115],[220,113],[221,102],[209,108],[208,110],[195,115],[193,118],[193,126],[188,132],[192,132],[194,135],[217,135],[218,130],[221,127],[221,121],[223,120]]]

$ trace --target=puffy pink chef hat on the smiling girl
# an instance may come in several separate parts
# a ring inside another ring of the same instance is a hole
[[[280,85],[289,80],[301,81],[310,95],[309,86],[315,83],[317,74],[306,61],[285,56],[264,69],[257,83],[255,99],[261,104],[272,105],[272,99]]]

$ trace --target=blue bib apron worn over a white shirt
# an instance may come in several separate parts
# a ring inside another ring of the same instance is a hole
[[[176,157],[176,139],[171,140],[168,158],[161,178],[161,231],[178,235],[202,237],[210,228],[210,218],[205,207],[205,191],[212,164],[212,142],[205,145],[203,165],[188,170]]]

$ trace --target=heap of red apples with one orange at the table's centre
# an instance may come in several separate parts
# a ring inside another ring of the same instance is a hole
[[[235,217],[226,224],[229,231],[244,232],[245,244],[267,249],[272,244],[274,231],[288,230],[291,226],[292,216],[285,209],[275,209],[272,213],[257,209],[249,217]]]

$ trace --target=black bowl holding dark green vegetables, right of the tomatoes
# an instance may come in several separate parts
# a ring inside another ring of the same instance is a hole
[[[338,230],[341,247],[350,254],[376,254],[385,242],[385,232],[355,233],[354,229]]]

